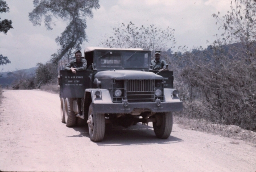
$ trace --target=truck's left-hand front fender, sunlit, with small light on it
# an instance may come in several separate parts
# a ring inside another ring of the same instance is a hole
[[[110,96],[109,90],[106,89],[86,89],[86,92],[90,92],[92,97],[92,103],[104,104],[104,103],[113,103]],[[101,95],[97,97],[95,95],[96,91],[100,91]]]

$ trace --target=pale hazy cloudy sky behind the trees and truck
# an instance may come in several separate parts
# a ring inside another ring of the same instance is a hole
[[[10,12],[0,14],[1,20],[13,21],[13,29],[7,35],[0,33],[0,54],[7,56],[11,64],[0,66],[2,72],[28,69],[38,62],[45,63],[59,49],[55,39],[64,31],[67,23],[55,19],[56,26],[47,30],[44,23],[33,26],[28,12],[34,9],[32,0],[5,0]],[[85,47],[97,47],[113,27],[133,22],[136,26],[158,28],[171,27],[175,30],[176,47],[189,49],[207,45],[215,39],[218,30],[212,14],[223,16],[230,10],[229,0],[100,0],[100,9],[93,10],[93,18],[87,18]]]

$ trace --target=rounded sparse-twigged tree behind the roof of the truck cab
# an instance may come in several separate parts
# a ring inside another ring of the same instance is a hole
[[[100,43],[109,48],[143,48],[150,51],[174,48],[176,42],[174,30],[157,28],[154,24],[149,27],[137,27],[133,22],[122,23],[121,26],[113,28],[112,35],[106,35],[106,39]]]

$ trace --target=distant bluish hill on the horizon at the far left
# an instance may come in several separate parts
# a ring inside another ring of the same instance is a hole
[[[13,81],[15,81],[15,74],[20,74],[20,73],[26,73],[27,75],[35,75],[35,68],[30,68],[30,69],[21,69],[21,70],[16,70],[14,72],[2,72],[0,73],[0,85],[2,86],[7,86],[11,85]]]

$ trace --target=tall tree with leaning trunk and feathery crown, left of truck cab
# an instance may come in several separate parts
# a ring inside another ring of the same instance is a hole
[[[62,57],[69,57],[81,44],[86,41],[86,17],[93,17],[92,9],[99,9],[98,0],[34,0],[35,9],[29,13],[29,19],[34,26],[40,26],[44,18],[47,30],[55,26],[54,18],[68,22],[64,32],[56,38],[60,45],[55,63]]]

